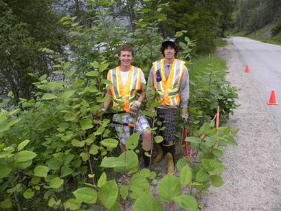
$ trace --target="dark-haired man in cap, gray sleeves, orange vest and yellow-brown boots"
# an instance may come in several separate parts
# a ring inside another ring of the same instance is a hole
[[[154,89],[156,99],[161,102],[157,108],[158,120],[166,129],[161,131],[164,142],[157,144],[158,155],[153,163],[158,164],[166,155],[168,174],[175,173],[176,115],[181,107],[181,117],[188,120],[189,76],[182,60],[176,59],[179,47],[174,39],[161,43],[164,58],[157,60],[148,76],[148,90]]]

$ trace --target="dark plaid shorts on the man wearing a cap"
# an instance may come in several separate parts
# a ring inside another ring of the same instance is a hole
[[[164,131],[160,131],[160,135],[164,138],[164,144],[173,144],[176,142],[176,117],[177,109],[157,109],[158,120],[165,126]]]

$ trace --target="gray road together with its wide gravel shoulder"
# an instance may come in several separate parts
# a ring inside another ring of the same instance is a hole
[[[240,107],[227,122],[239,129],[238,146],[225,148],[225,184],[210,188],[204,211],[280,211],[281,47],[241,37],[227,42],[218,55],[227,60],[227,80],[241,88],[236,100]],[[266,103],[271,89],[279,96],[278,106]]]

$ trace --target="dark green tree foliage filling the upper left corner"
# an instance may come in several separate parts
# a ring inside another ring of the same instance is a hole
[[[0,1],[0,90],[15,102],[33,97],[33,75],[49,74],[50,58],[38,49],[59,51],[63,34],[52,1]],[[43,11],[43,12],[42,12]]]

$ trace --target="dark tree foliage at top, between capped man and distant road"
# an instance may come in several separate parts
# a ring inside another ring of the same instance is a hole
[[[196,39],[199,52],[214,46],[216,36],[221,36],[229,25],[236,1],[168,1],[164,8],[167,20],[160,23],[164,36],[186,30],[187,36]]]

